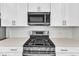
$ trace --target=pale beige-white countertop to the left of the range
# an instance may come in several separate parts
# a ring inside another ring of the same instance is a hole
[[[0,41],[0,47],[22,47],[27,38],[12,38]]]

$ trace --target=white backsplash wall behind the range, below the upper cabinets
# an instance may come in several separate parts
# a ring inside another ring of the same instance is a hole
[[[7,38],[29,37],[29,32],[32,30],[49,30],[50,38],[72,38],[72,28],[47,26],[8,27],[6,28],[6,36]]]

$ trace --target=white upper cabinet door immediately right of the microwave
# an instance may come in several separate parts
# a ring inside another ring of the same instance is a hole
[[[51,4],[51,26],[67,26],[65,4]]]

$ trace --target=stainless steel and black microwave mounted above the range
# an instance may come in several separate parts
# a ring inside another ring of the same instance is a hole
[[[35,26],[49,26],[50,12],[28,12],[28,24]]]

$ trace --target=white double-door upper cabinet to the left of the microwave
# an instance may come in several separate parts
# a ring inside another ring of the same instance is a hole
[[[1,26],[27,26],[27,4],[2,3]]]

